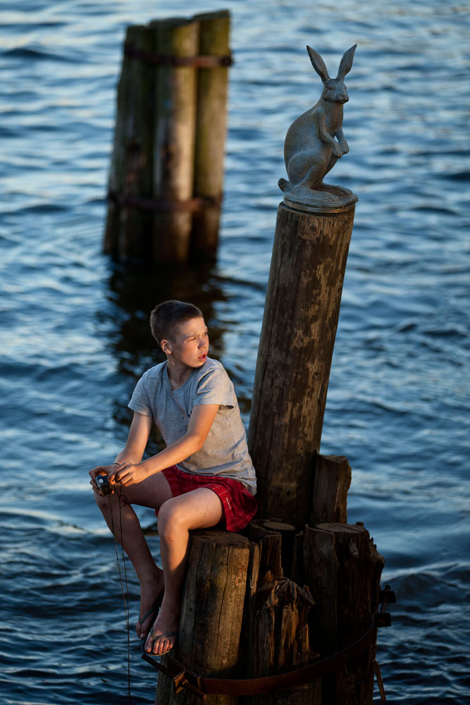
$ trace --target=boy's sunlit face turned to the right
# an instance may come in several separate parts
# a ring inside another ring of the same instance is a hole
[[[209,333],[202,317],[180,323],[171,340],[161,341],[163,353],[183,367],[202,367],[209,351]]]

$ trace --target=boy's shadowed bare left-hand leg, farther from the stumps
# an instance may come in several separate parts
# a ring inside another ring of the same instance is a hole
[[[120,494],[120,513],[118,494]],[[127,488],[118,486],[117,491],[111,497],[101,497],[95,493],[95,498],[106,524],[111,532],[114,527],[116,541],[123,546],[134,566],[137,579],[140,582],[140,615],[144,615],[163,593],[163,571],[156,566],[151,556],[137,514],[132,509],[131,504],[159,509],[164,502],[171,498],[170,486],[166,482],[164,475],[159,472],[137,485]],[[120,533],[121,522],[123,537],[121,537]],[[142,625],[137,622],[136,631],[138,637],[142,639],[147,637],[151,626],[151,618],[152,615],[149,615]]]

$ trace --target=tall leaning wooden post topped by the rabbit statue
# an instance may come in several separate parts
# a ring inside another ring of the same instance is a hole
[[[309,521],[354,204],[281,203],[254,380],[248,443],[259,515]]]

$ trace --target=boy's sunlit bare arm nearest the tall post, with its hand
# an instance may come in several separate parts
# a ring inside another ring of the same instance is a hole
[[[201,450],[204,441],[209,434],[212,422],[218,411],[218,404],[201,404],[195,406],[191,413],[187,431],[178,441],[171,443],[165,450],[156,453],[147,460],[130,460],[127,456],[121,460],[119,467],[114,467],[109,474],[110,482],[120,482],[123,485],[136,484],[142,480],[161,472],[170,465],[175,465],[186,458],[189,458],[197,450]],[[127,448],[127,446],[126,446]],[[123,451],[124,453],[124,451]],[[142,450],[143,453],[143,450]],[[142,455],[140,455],[142,458]],[[119,459],[116,458],[116,460]]]

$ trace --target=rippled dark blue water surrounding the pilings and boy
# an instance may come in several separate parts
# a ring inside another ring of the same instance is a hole
[[[316,102],[311,44],[347,84],[359,195],[323,430],[353,469],[350,522],[398,604],[379,633],[390,703],[470,701],[469,8],[462,0],[247,0],[233,12],[218,261],[165,278],[101,253],[125,25],[214,6],[4,0],[0,21],[1,703],[126,702],[114,546],[87,470],[113,458],[153,364],[157,300],[200,305],[249,417],[290,122]],[[333,178],[334,177],[334,178]],[[152,513],[142,512],[146,526]],[[158,539],[149,537],[158,555]],[[130,575],[132,621],[137,584]],[[155,676],[132,640],[133,701]],[[378,694],[376,694],[378,699]]]

